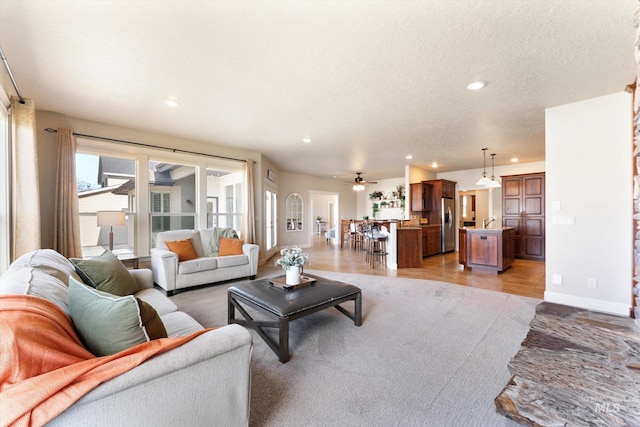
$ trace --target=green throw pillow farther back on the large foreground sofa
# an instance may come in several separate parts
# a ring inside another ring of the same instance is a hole
[[[129,270],[111,251],[95,258],[71,258],[85,284],[113,295],[125,296],[138,292],[138,284]]]

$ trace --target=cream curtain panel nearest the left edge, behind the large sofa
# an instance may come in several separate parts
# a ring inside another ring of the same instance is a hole
[[[36,110],[11,97],[11,261],[40,249],[40,186]]]

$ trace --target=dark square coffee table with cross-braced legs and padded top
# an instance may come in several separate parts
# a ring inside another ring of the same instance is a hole
[[[292,320],[329,307],[335,307],[353,320],[356,326],[362,325],[362,292],[360,288],[311,274],[305,274],[305,276],[314,278],[316,281],[311,285],[290,290],[273,286],[269,279],[231,286],[228,290],[228,323],[238,323],[253,328],[276,353],[282,363],[289,360],[289,322]],[[351,300],[354,302],[353,314],[339,305]],[[273,320],[254,320],[242,305]],[[244,319],[235,318],[236,309]],[[278,343],[267,335],[264,328],[278,329]]]

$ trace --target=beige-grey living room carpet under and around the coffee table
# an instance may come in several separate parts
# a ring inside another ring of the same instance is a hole
[[[517,425],[496,412],[494,398],[511,377],[507,364],[540,300],[428,280],[307,272],[360,287],[363,325],[334,308],[295,320],[285,364],[252,331],[251,426]],[[172,300],[205,326],[224,325],[233,284]]]

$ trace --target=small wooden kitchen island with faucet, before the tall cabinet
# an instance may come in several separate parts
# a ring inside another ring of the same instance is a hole
[[[515,228],[461,228],[459,262],[472,271],[498,274],[515,259]]]

